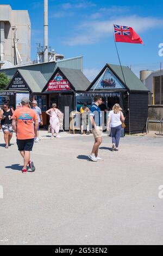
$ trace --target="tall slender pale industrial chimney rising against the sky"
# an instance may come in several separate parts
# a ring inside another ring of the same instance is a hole
[[[48,0],[44,0],[44,62],[48,62]]]

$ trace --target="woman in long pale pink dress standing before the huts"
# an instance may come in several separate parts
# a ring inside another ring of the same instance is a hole
[[[54,137],[54,133],[56,133],[56,138],[60,138],[59,136],[59,116],[61,111],[57,109],[57,104],[52,104],[52,109],[46,111],[46,114],[50,116],[50,125],[52,138]]]

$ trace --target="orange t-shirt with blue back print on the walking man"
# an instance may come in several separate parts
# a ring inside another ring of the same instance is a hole
[[[17,122],[17,139],[28,140],[34,139],[34,122],[38,120],[37,114],[33,109],[23,106],[16,109],[12,118]]]

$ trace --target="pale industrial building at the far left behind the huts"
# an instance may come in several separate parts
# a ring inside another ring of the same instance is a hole
[[[0,68],[30,62],[30,17],[27,10],[0,5]]]

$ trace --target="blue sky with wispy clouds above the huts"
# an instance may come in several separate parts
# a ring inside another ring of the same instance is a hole
[[[139,70],[158,70],[163,57],[162,1],[49,0],[49,46],[65,58],[83,55],[84,73],[92,80],[106,63],[118,64],[112,24],[133,27],[143,39],[140,44],[117,43],[121,62]],[[36,43],[43,45],[43,0],[1,0],[12,9],[27,9],[32,26],[32,60]]]

